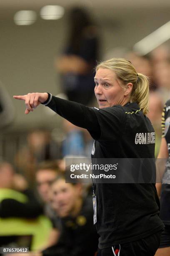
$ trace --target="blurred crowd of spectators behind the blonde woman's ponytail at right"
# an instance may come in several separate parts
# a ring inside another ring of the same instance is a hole
[[[150,81],[148,118],[155,129],[155,157],[157,157],[162,136],[163,106],[170,98],[170,45],[161,45],[147,56],[128,52],[125,58],[133,63],[138,73],[148,76]]]

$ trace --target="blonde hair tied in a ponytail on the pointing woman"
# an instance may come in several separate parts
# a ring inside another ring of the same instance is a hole
[[[126,89],[128,83],[133,84],[133,89],[130,94],[130,101],[137,102],[144,115],[148,113],[148,96],[149,96],[149,81],[144,74],[137,73],[133,64],[127,59],[109,59],[97,64],[98,69],[113,70],[117,78],[121,81],[121,86]]]

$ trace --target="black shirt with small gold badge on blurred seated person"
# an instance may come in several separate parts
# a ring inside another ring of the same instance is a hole
[[[92,200],[87,197],[77,216],[61,218],[59,241],[42,251],[43,256],[94,256],[98,236],[92,223],[92,214]]]

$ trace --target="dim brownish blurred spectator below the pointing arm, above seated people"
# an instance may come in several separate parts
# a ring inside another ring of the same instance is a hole
[[[52,140],[49,131],[34,130],[27,136],[25,145],[15,156],[15,164],[23,172],[30,186],[35,181],[36,165],[42,161],[60,158],[60,147]]]

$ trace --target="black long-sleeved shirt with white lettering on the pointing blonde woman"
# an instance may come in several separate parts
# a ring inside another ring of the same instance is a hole
[[[44,104],[49,100],[50,95]],[[48,106],[90,132],[95,139],[93,159],[154,158],[153,126],[135,102],[97,109],[52,97]],[[147,133],[146,143],[139,140],[142,133]],[[155,184],[100,183],[95,184],[95,195],[99,248],[135,241],[164,227]]]

